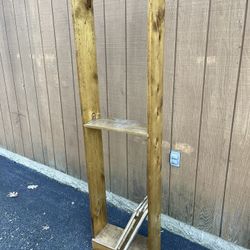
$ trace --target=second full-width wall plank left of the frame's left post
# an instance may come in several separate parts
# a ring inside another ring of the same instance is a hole
[[[62,104],[58,78],[55,31],[50,0],[38,0],[39,20],[47,76],[47,88],[53,133],[56,168],[67,171]]]

